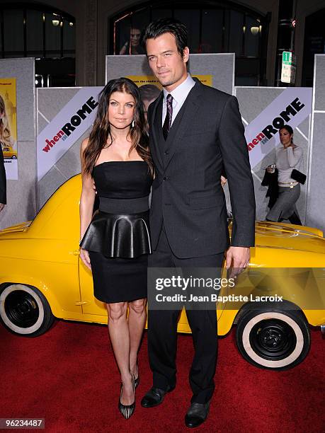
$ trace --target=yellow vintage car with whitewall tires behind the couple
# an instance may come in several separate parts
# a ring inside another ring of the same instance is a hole
[[[79,259],[80,194],[81,176],[76,175],[33,221],[0,231],[0,318],[13,333],[35,337],[55,318],[107,323],[104,304],[93,297],[91,272]],[[237,346],[248,362],[292,368],[309,351],[309,325],[325,330],[324,282],[320,230],[256,222],[256,247],[238,287],[246,295],[276,293],[283,301],[257,302],[255,296],[240,304],[219,302],[218,334],[226,335],[235,324]],[[184,311],[178,331],[190,333]]]

